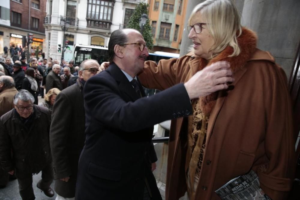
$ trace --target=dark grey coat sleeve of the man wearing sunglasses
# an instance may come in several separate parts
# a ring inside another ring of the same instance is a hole
[[[52,109],[52,122],[50,127],[50,148],[55,179],[65,178],[71,175],[68,156],[68,136],[70,135],[70,120],[74,116],[72,115],[72,110],[70,99],[66,94],[60,92],[55,99],[55,104]]]

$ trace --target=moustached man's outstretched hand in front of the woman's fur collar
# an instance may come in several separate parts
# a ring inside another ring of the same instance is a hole
[[[190,99],[194,99],[227,89],[228,84],[233,81],[230,64],[226,61],[218,61],[198,71],[184,83],[184,86]]]

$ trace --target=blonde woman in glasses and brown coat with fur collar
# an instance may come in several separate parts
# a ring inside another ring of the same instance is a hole
[[[256,48],[256,34],[241,27],[230,0],[207,0],[189,18],[189,54],[145,63],[147,88],[187,82],[217,61],[230,63],[228,90],[192,100],[193,115],[171,123],[166,199],[220,199],[214,192],[251,169],[273,200],[286,199],[295,171],[292,111],[284,71]],[[230,84],[230,83],[229,83]]]

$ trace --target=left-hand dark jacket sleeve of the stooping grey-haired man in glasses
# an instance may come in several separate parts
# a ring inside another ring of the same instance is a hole
[[[8,131],[0,120],[0,163],[5,172],[14,170],[14,164],[11,157],[11,140]]]

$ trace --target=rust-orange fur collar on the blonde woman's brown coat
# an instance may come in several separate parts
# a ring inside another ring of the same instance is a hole
[[[242,28],[242,34],[240,35],[240,37],[237,38],[237,40],[238,46],[241,49],[241,53],[238,56],[228,57],[232,54],[233,49],[231,46],[227,46],[222,52],[220,52],[210,61],[207,61],[203,58],[199,58],[199,70],[202,70],[204,67],[217,61],[229,62],[230,68],[233,73],[244,67],[246,62],[251,58],[251,56],[256,50],[257,36],[253,31],[247,28]],[[214,104],[216,103],[217,95],[218,92],[214,92],[205,97],[200,97],[200,108],[205,115],[210,114],[212,108],[214,107]]]

